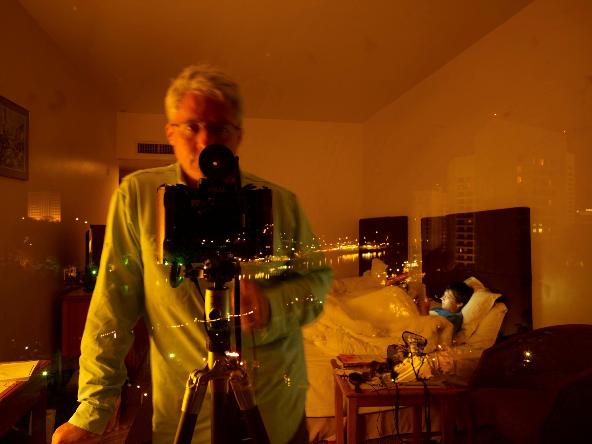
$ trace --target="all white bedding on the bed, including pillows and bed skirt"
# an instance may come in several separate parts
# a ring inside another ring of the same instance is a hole
[[[334,376],[330,361],[339,353],[378,354],[386,358],[389,345],[403,343],[401,334],[404,331],[421,334],[428,340],[425,350],[429,353],[428,362],[462,391],[466,390],[483,350],[496,341],[506,314],[506,306],[496,303],[475,330],[475,334],[478,333],[475,344],[482,348],[474,348],[471,341],[459,346],[452,338],[452,324],[445,318],[419,316],[416,305],[403,289],[382,287],[381,266],[384,263],[378,261],[375,264],[375,260],[372,268],[377,269],[376,273],[368,271],[363,277],[333,281],[323,313],[314,323],[303,327],[309,381],[305,412],[310,442],[335,439]],[[409,368],[397,370],[403,370],[404,378],[413,378]],[[429,370],[430,367],[424,365],[420,375],[427,376]],[[344,427],[348,420],[345,416],[346,406],[344,398]],[[393,433],[394,418],[390,410],[392,407],[358,408],[358,441]],[[401,433],[411,433],[411,411],[411,407],[402,407],[400,410]],[[459,430],[466,428],[465,416],[466,412],[456,414]],[[434,432],[440,429],[439,418],[440,411],[434,408]],[[423,419],[422,427],[425,431]]]

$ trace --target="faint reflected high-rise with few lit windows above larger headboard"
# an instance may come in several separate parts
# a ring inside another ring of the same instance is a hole
[[[494,118],[475,139],[475,211],[529,207],[532,233],[555,236],[574,223],[573,166],[565,134]]]

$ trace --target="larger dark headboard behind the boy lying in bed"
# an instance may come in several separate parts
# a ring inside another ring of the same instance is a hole
[[[530,208],[422,218],[422,269],[431,298],[470,276],[501,293],[508,307],[504,336],[517,333],[516,324],[532,325]]]

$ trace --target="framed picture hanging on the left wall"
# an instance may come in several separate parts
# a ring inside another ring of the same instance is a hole
[[[29,179],[29,112],[0,96],[0,176]]]

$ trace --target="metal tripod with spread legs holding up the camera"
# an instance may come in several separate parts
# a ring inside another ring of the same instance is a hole
[[[178,265],[171,266],[170,276],[178,274]],[[255,388],[246,371],[240,366],[236,356],[227,356],[230,351],[230,288],[224,285],[240,273],[240,267],[226,260],[208,260],[204,269],[185,268],[185,276],[189,277],[198,288],[197,278],[204,278],[213,283],[213,287],[205,290],[204,321],[206,329],[206,349],[208,362],[201,370],[194,370],[189,374],[185,384],[185,394],[181,406],[181,419],[175,436],[174,444],[189,444],[194,433],[195,423],[204,403],[205,392],[210,384],[211,420],[210,442],[226,444],[226,424],[224,410],[226,407],[227,382],[234,392],[236,402],[243,412],[250,435],[255,444],[269,444],[269,437],[259,413],[255,400]],[[229,276],[230,275],[230,276]],[[235,279],[239,282],[239,279]],[[202,295],[203,297],[203,295]],[[234,288],[235,326],[237,355],[240,356],[240,286]]]

